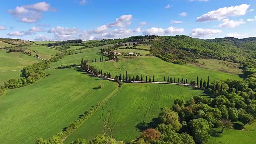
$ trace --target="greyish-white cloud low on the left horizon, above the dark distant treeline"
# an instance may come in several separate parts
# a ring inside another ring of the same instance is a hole
[[[68,40],[71,38],[71,34],[77,34],[77,28],[57,26],[48,30],[48,33],[53,33],[56,40]]]

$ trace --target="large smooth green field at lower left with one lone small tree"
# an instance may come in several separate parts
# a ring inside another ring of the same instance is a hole
[[[98,80],[77,68],[48,69],[46,73],[50,76],[0,96],[2,144],[48,139],[118,88],[114,82]],[[98,89],[100,83],[104,87]]]

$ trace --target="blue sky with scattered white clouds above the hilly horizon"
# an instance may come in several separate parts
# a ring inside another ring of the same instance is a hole
[[[245,38],[256,0],[1,0],[0,37],[114,39],[135,35]]]

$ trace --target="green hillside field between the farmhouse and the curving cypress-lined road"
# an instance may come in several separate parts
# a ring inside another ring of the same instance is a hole
[[[155,81],[159,78],[159,81],[164,80],[164,76],[167,78],[169,75],[170,78],[188,78],[189,80],[196,80],[196,77],[202,78],[203,80],[207,80],[207,77],[210,77],[210,80],[226,80],[236,79],[242,80],[236,74],[229,74],[220,72],[218,70],[211,70],[200,68],[191,64],[179,65],[173,64],[170,62],[165,62],[157,57],[148,57],[148,56],[140,56],[140,57],[122,57],[120,62],[100,62],[94,63],[97,68],[102,69],[102,71],[107,71],[112,74],[112,77],[115,77],[119,74],[128,72],[128,75],[136,76],[137,74],[144,76],[144,81],[146,80],[146,75],[153,77],[155,75]],[[151,79],[152,79],[151,77]]]

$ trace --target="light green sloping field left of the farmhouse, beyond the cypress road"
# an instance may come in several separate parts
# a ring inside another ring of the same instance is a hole
[[[100,52],[99,47],[75,50],[74,52],[83,52],[83,53],[64,56],[63,59],[59,60],[58,62],[52,63],[51,66],[53,68],[56,68],[61,65],[80,64],[82,58],[89,59],[89,60],[94,60],[94,58],[96,58],[96,60],[99,62],[100,57],[102,57],[102,55],[99,54]],[[106,58],[108,60],[108,57],[106,56],[103,56],[103,58],[104,59]]]

